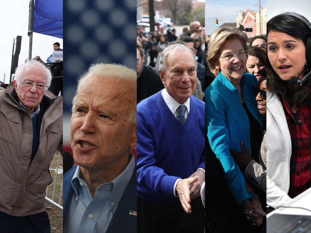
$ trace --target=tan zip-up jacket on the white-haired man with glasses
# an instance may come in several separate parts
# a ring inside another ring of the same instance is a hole
[[[50,162],[57,148],[63,150],[63,98],[48,90],[41,103],[39,148],[30,166],[32,120],[19,104],[13,82],[0,88],[0,211],[12,216],[45,211]]]

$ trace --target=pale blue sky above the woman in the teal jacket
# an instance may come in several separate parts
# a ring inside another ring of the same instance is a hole
[[[259,11],[258,5],[259,0],[206,0],[205,34],[210,35],[217,29],[216,18],[218,19],[219,26],[224,23],[235,23],[236,15],[239,11],[245,12],[247,9],[251,9],[252,11],[257,12]],[[260,1],[260,6],[265,8],[267,6],[267,1]]]

